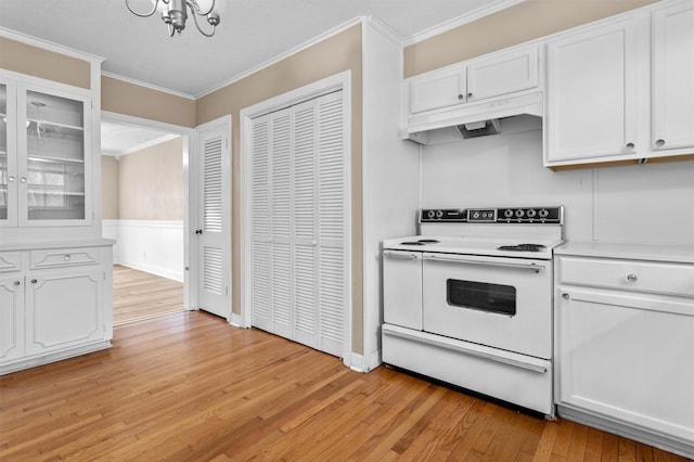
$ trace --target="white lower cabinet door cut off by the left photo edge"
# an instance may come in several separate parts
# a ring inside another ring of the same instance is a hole
[[[0,277],[0,362],[24,356],[24,277]]]

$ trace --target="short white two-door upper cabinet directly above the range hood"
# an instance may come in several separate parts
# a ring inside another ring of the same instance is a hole
[[[493,53],[410,79],[410,112],[503,97],[538,85],[537,46]]]

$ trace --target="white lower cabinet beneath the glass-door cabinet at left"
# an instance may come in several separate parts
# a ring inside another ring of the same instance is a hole
[[[0,252],[0,373],[94,351],[113,336],[111,245]]]

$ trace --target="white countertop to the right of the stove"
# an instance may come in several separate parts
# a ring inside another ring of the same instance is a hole
[[[694,245],[571,241],[555,247],[554,255],[694,264]]]

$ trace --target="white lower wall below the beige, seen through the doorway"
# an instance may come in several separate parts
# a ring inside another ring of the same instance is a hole
[[[114,262],[183,282],[183,222],[104,220],[115,239]]]

